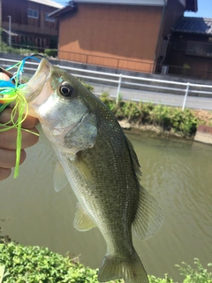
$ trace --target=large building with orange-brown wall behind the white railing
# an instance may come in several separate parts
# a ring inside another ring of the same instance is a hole
[[[60,59],[153,73],[184,11],[197,0],[73,0],[49,16],[59,19]]]

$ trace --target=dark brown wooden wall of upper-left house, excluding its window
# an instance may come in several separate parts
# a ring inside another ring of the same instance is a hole
[[[39,11],[39,18],[27,17],[27,9]],[[11,15],[11,32],[18,34],[12,36],[13,42],[21,44],[31,39],[34,45],[49,47],[50,37],[58,34],[58,19],[48,21],[45,13],[55,10],[57,8],[26,0],[2,0],[2,27],[9,29],[8,15]]]

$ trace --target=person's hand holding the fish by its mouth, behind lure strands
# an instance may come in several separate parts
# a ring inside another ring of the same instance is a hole
[[[0,73],[0,80],[9,80],[9,77],[4,73]],[[1,124],[11,120],[11,111],[10,108],[6,108],[4,111],[0,112],[0,128]],[[37,124],[38,119],[27,116],[27,119],[22,123],[22,128],[38,134],[38,130],[35,127]],[[38,142],[38,136],[35,134],[25,130],[21,130],[21,134],[20,164],[22,164],[27,157],[24,149],[27,149]],[[16,138],[16,128],[0,132],[0,180],[8,178],[11,175],[11,168],[16,164]]]

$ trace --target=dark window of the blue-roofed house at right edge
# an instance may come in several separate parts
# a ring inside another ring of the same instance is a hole
[[[212,43],[187,42],[186,54],[212,57]]]

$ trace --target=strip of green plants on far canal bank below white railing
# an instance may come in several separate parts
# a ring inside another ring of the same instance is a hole
[[[195,134],[197,126],[202,123],[194,111],[189,109],[182,111],[177,107],[162,104],[135,103],[123,100],[116,104],[114,100],[110,99],[108,93],[103,93],[101,99],[119,120],[127,119],[130,123],[137,125],[161,126],[164,131],[183,136]]]

